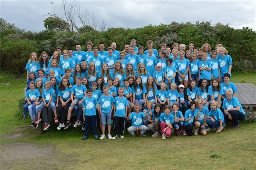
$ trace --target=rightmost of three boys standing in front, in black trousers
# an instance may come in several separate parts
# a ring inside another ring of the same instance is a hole
[[[124,94],[124,88],[119,87],[118,90],[118,97],[115,97],[115,106],[114,106],[114,137],[112,139],[116,139],[117,132],[119,130],[120,137],[123,138],[123,132],[124,132],[124,120],[127,118],[127,110],[128,110],[128,100],[123,96]]]

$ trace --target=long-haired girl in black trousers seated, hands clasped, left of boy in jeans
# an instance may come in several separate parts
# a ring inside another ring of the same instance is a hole
[[[59,97],[59,106],[58,106],[58,113],[60,114],[61,121],[59,126],[57,127],[58,130],[61,130],[62,127],[65,127],[65,122],[67,118],[68,108],[71,104],[71,88],[69,87],[70,83],[66,77],[64,77],[60,83],[59,91],[57,96]]]

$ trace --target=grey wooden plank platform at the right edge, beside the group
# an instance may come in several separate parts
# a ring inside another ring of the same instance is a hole
[[[237,98],[242,107],[256,107],[256,86],[251,83],[236,83]]]

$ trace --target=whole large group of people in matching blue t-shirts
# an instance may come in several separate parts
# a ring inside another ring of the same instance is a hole
[[[125,125],[132,137],[137,131],[140,137],[152,133],[166,139],[172,130],[176,136],[219,133],[227,122],[237,129],[238,120],[246,117],[230,82],[232,57],[221,44],[213,51],[207,43],[196,48],[193,42],[186,51],[178,43],[157,50],[151,40],[145,50],[134,39],[123,51],[116,50],[115,42],[107,51],[104,42],[85,45],[86,52],[76,44],[76,51],[56,47],[51,57],[31,54],[23,117],[29,113],[31,126],[37,128],[43,118],[43,130],[48,130],[53,113],[57,129],[67,129],[74,112],[73,127],[82,127],[83,140],[90,127],[98,140],[97,126],[100,139],[106,127],[109,139],[123,138]]]

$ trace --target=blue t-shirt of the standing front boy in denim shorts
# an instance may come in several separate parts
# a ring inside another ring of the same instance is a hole
[[[101,113],[109,114],[114,102],[115,99],[112,95],[108,95],[107,97],[104,95],[100,96],[99,103],[101,104]]]

